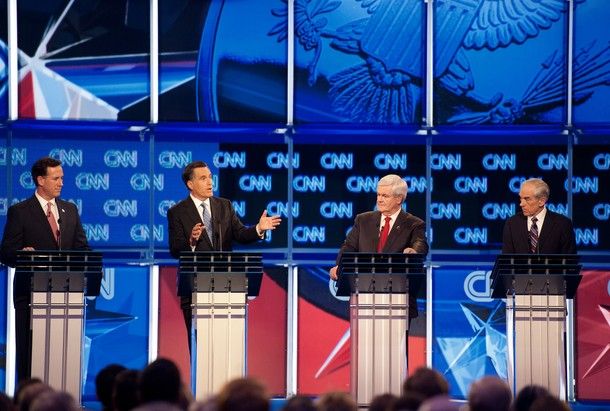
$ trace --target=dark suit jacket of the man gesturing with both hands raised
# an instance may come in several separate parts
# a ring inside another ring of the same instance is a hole
[[[256,226],[246,227],[235,214],[233,205],[226,198],[211,197],[213,240],[204,232],[199,237],[195,251],[231,251],[233,241],[251,243],[260,240]],[[191,231],[197,223],[203,223],[197,206],[187,197],[167,211],[169,229],[169,251],[174,258],[180,257],[181,251],[191,251],[189,239]]]

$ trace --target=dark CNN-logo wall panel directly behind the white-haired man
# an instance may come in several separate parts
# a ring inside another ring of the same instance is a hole
[[[294,247],[338,250],[356,215],[376,209],[377,182],[387,174],[405,179],[404,209],[425,220],[426,147],[411,137],[410,145],[295,145]],[[374,140],[384,138],[389,137],[378,134]]]

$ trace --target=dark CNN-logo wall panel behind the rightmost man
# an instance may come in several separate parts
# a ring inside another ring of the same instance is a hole
[[[548,208],[568,215],[565,146],[433,144],[430,167],[434,249],[501,249],[504,223],[521,211],[519,189],[528,178],[546,181]]]

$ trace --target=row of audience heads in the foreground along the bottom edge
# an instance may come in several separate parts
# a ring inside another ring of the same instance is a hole
[[[214,396],[195,401],[176,365],[157,359],[143,370],[109,365],[96,376],[96,395],[104,411],[268,411],[270,396],[252,378],[228,382]],[[68,393],[59,392],[39,379],[19,384],[14,399],[0,395],[0,411],[76,411],[81,407]],[[283,411],[356,411],[354,399],[344,392],[328,392],[317,399],[296,395]],[[467,401],[452,401],[449,384],[437,371],[419,368],[403,384],[402,395],[381,393],[370,411],[564,411],[570,410],[543,387],[526,386],[513,398],[507,383],[497,377],[474,382]]]

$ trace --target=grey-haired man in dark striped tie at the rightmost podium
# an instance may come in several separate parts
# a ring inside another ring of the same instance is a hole
[[[572,221],[546,208],[549,186],[539,178],[521,184],[521,212],[506,221],[503,254],[576,254]]]

